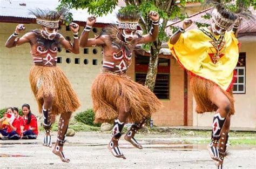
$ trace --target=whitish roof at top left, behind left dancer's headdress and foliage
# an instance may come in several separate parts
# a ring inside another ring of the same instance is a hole
[[[35,18],[29,15],[29,9],[54,10],[58,4],[58,0],[0,0],[0,17]],[[120,7],[117,6],[112,13],[97,17],[96,23],[116,23],[116,13],[119,9]],[[90,16],[87,10],[71,9],[70,12],[73,13],[74,21],[86,22],[87,17]]]

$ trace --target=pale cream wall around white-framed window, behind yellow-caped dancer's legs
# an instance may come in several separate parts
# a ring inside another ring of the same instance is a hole
[[[235,114],[231,118],[231,127],[256,128],[256,43],[241,42],[240,52],[246,52],[246,93],[234,94]],[[194,107],[196,103],[194,102]],[[194,126],[211,126],[212,113],[193,112]]]

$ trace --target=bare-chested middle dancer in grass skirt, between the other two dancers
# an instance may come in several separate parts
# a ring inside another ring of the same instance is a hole
[[[137,32],[138,13],[118,13],[118,25],[105,28],[96,38],[90,38],[89,32],[96,22],[89,17],[82,32],[79,44],[82,48],[100,45],[103,48],[102,73],[92,84],[92,102],[95,122],[112,121],[114,127],[112,139],[108,145],[115,157],[125,159],[118,146],[125,123],[135,123],[125,135],[125,140],[133,146],[142,148],[134,134],[142,127],[144,120],[160,107],[158,98],[147,87],[126,76],[131,64],[132,51],[136,44],[153,42],[158,36],[157,12],[150,12],[152,27],[149,34],[141,36]]]

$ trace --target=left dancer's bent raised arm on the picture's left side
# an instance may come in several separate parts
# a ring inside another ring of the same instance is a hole
[[[19,33],[25,30],[25,26],[23,24],[19,24],[16,26],[15,32],[8,38],[5,43],[7,48],[13,48],[17,45],[22,45],[24,43],[30,42],[30,36],[33,34],[32,32],[26,33],[21,38],[18,37]]]

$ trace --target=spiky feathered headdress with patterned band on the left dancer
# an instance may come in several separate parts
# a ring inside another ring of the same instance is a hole
[[[67,11],[68,10],[65,8],[62,8],[59,11],[36,8],[35,10],[30,10],[29,14],[36,16],[36,23],[39,25],[48,28],[58,28],[60,19],[62,19]]]

